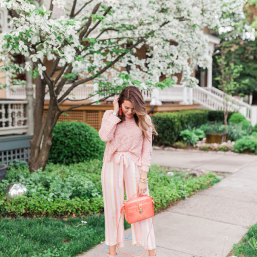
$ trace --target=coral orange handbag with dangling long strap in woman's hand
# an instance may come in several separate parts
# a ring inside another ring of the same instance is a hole
[[[123,211],[124,211],[125,219],[129,224],[142,221],[143,219],[146,219],[146,218],[153,217],[152,225],[146,240],[147,243],[146,243],[145,252],[139,256],[139,257],[142,257],[148,250],[148,237],[150,235],[153,222],[154,222],[154,198],[149,195],[140,195],[136,198],[133,198],[136,194],[134,194],[130,199],[124,200],[123,206],[121,207],[121,210],[120,210],[120,218]],[[119,225],[120,225],[120,219],[119,219],[119,224],[117,228],[117,248],[119,252],[124,253],[126,255],[130,255],[132,257],[136,257],[132,254],[120,251],[118,246]]]

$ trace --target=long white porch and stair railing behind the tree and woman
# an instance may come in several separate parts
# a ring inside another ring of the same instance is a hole
[[[63,92],[68,89],[70,84],[64,85]],[[7,98],[11,99],[26,99],[26,90],[21,86],[13,86],[7,89]],[[94,91],[98,90],[98,87],[92,84],[79,85],[74,90],[71,91],[68,96],[69,99],[83,100],[89,96],[89,94],[94,94]],[[35,93],[35,92],[34,92]],[[157,100],[156,102],[179,102],[182,104],[193,104],[199,103],[206,108],[213,110],[223,109],[223,91],[214,87],[200,87],[195,86],[194,88],[189,88],[183,85],[174,85],[173,87],[167,87],[164,89],[154,88],[153,91],[141,90],[144,101],[151,101],[152,99]],[[62,93],[61,93],[62,95]],[[102,98],[102,96],[100,96]],[[257,123],[257,106],[252,106],[241,100],[238,100],[232,96],[227,95],[228,109],[229,111],[236,111],[242,113],[247,120],[251,122],[252,125]],[[46,94],[46,100],[49,100],[49,94]],[[114,97],[109,97],[108,101],[113,101]],[[91,101],[99,100],[99,96],[88,98]]]

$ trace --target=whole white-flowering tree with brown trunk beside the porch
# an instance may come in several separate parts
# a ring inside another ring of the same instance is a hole
[[[230,20],[222,14],[239,12],[244,2],[51,0],[45,5],[42,0],[0,0],[0,6],[9,10],[13,28],[0,35],[0,63],[4,63],[0,71],[8,73],[10,84],[17,84],[17,74],[32,69],[35,81],[30,170],[45,168],[58,117],[81,106],[61,108],[72,89],[93,81],[98,84],[93,95],[103,101],[128,84],[150,90],[169,86],[179,72],[181,83],[196,84],[191,77],[193,68],[205,67],[209,61],[207,37],[201,28],[228,25]],[[56,17],[53,7],[65,15]],[[147,48],[145,59],[136,54],[143,45]],[[30,62],[25,67],[16,64],[14,54],[30,59],[32,67]],[[51,62],[48,69],[46,61]],[[156,83],[161,75],[166,76],[166,83]],[[74,82],[63,91],[70,80]],[[49,109],[43,119],[47,91]]]

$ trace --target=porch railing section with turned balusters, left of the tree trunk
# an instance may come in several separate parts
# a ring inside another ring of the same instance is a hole
[[[27,133],[27,101],[0,101],[0,135]]]

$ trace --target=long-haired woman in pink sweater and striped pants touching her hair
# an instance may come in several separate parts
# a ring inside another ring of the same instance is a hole
[[[124,200],[135,193],[149,195],[147,174],[151,166],[152,134],[158,135],[151,118],[146,114],[143,97],[135,86],[124,88],[113,101],[114,110],[105,111],[99,136],[107,142],[101,173],[105,244],[109,247],[107,257],[117,256],[117,227]],[[124,214],[122,214],[118,246],[124,246]],[[149,234],[153,218],[131,224],[132,244],[142,245],[155,254],[154,227]],[[149,234],[149,237],[148,237]],[[148,240],[147,240],[148,237]],[[147,242],[146,242],[147,241]]]

